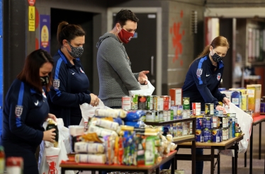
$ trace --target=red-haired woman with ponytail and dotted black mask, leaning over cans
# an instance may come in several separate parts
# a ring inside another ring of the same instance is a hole
[[[206,46],[201,54],[191,63],[184,86],[182,87],[183,97],[190,98],[190,104],[201,103],[201,110],[205,110],[205,103],[213,103],[215,110],[225,108],[219,105],[219,101],[225,105],[230,100],[225,94],[220,93],[218,87],[222,79],[225,57],[229,43],[227,38],[218,36]],[[190,105],[191,108],[191,105]],[[192,109],[192,108],[191,108]],[[196,154],[203,155],[203,149],[196,149]],[[196,161],[196,173],[203,173],[203,161]]]

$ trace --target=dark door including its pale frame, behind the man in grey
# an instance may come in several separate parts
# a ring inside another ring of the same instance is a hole
[[[122,8],[108,8],[108,30],[113,18]],[[123,8],[125,9],[125,7]],[[162,21],[161,8],[130,8],[139,18],[134,38],[125,45],[132,71],[150,71],[148,80],[156,88],[152,95],[162,93]]]

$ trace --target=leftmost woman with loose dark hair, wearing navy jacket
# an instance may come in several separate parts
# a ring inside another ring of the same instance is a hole
[[[45,50],[35,50],[26,58],[25,65],[6,94],[1,145],[6,158],[23,158],[23,173],[38,174],[35,151],[41,141],[55,141],[55,129],[45,131],[49,113],[46,91],[52,84],[53,59]]]

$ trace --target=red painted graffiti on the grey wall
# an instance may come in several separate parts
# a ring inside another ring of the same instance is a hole
[[[181,11],[180,13],[180,17],[183,18],[184,13],[183,11]],[[173,58],[173,63],[176,62],[176,60],[179,59],[179,54],[182,54],[182,50],[183,50],[183,45],[181,43],[182,37],[185,35],[185,30],[181,31],[181,25],[182,22],[174,22],[173,26],[170,28],[170,34],[171,39],[172,39],[172,43],[173,43],[173,47],[175,49],[175,57]],[[181,66],[183,66],[183,60],[181,59],[179,61],[179,64]]]

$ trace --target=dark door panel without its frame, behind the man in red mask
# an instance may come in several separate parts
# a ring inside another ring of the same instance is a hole
[[[149,81],[156,87],[157,71],[157,14],[135,13],[139,22],[135,36],[125,49],[132,62],[133,72],[150,71],[147,74]],[[152,95],[155,95],[156,91]]]

